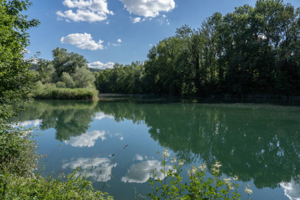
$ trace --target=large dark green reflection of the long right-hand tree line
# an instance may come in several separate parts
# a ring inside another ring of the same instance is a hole
[[[223,172],[257,188],[299,181],[300,110],[287,107],[101,103],[117,121],[145,120],[149,133],[191,163],[223,163]]]

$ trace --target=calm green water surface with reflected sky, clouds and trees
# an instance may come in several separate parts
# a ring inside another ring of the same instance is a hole
[[[116,200],[150,192],[166,147],[186,167],[221,161],[224,176],[239,176],[243,200],[247,183],[251,200],[300,200],[300,107],[116,97],[18,106],[25,111],[12,121],[36,127],[44,175],[93,166],[87,176]]]

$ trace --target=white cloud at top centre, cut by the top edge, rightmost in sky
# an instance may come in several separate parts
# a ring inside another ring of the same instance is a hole
[[[174,0],[121,0],[124,7],[130,13],[156,17],[159,12],[169,12],[175,8]]]

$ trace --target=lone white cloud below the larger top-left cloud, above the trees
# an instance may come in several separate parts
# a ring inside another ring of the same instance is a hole
[[[95,40],[93,40],[91,34],[88,33],[72,33],[69,34],[66,37],[62,37],[60,39],[61,43],[67,43],[67,44],[72,44],[72,45],[76,45],[76,47],[80,48],[80,49],[88,49],[88,50],[102,50],[103,49],[103,41],[99,40],[98,43],[95,42]]]

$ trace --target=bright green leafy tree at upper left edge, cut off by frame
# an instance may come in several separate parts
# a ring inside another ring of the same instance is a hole
[[[0,102],[25,98],[33,86],[33,75],[24,59],[29,28],[40,24],[21,14],[28,0],[0,0]]]

